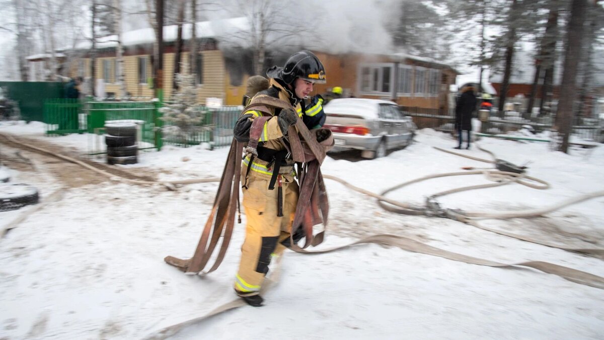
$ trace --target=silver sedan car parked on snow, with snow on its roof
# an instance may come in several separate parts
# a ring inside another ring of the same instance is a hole
[[[363,158],[378,158],[388,150],[411,144],[416,125],[393,101],[341,98],[323,107],[327,116],[323,127],[332,130],[335,147],[361,150]]]

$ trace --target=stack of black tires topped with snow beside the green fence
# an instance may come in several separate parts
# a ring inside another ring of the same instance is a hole
[[[137,164],[137,124],[105,124],[105,144],[107,144],[107,164]]]

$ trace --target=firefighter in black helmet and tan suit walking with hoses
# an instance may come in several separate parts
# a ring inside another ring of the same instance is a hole
[[[258,155],[247,153],[243,159],[241,182],[247,224],[234,289],[239,297],[254,307],[262,306],[260,287],[271,257],[281,255],[289,246],[298,202],[294,161],[284,144],[287,143],[288,129],[298,117],[302,117],[309,129],[323,124],[324,118],[320,117],[322,109],[315,115],[309,115],[313,106],[317,103],[321,106],[320,98],[314,97],[315,104],[311,102],[309,110],[303,104],[303,98],[309,97],[315,83],[326,82],[323,64],[310,51],[292,54],[283,67],[272,66],[266,75],[269,88],[256,94],[251,103],[260,96],[269,96],[290,103],[295,110],[269,108],[272,117],[263,127]],[[261,116],[261,112],[253,109],[243,112],[234,127],[235,139],[248,142],[252,121]],[[278,190],[275,190],[275,185]],[[278,191],[281,191],[281,201],[278,200]],[[300,238],[301,235],[294,235],[294,240]]]

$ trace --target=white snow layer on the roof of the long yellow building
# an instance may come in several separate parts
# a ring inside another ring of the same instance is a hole
[[[191,38],[191,24],[182,25],[182,39]],[[249,31],[248,18],[230,18],[215,21],[202,21],[195,25],[195,35],[199,37],[217,37],[223,34],[234,34],[242,31]],[[164,42],[176,41],[178,25],[164,26]],[[124,32],[121,36],[121,42],[124,46],[135,46],[155,41],[155,32],[153,28],[141,28]],[[108,48],[117,46],[117,35],[104,36],[97,39],[96,48]],[[76,45],[76,50],[86,50],[91,48],[91,42],[80,42]]]

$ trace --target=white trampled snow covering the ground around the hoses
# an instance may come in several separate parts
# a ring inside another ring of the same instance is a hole
[[[0,132],[40,138],[86,152],[87,135],[43,136],[40,123],[2,125]],[[323,173],[381,193],[426,175],[492,165],[434,149],[455,141],[420,130],[416,143],[385,158],[328,157]],[[527,162],[528,175],[551,188],[519,184],[439,197],[445,208],[509,211],[539,208],[604,190],[604,147],[551,152],[541,142],[483,138],[498,158]],[[10,149],[0,146],[1,153]],[[227,149],[204,147],[145,152],[130,169],[153,169],[160,179],[220,176]],[[489,159],[476,147],[460,153]],[[27,157],[27,152],[22,152]],[[23,218],[0,240],[0,338],[140,339],[162,327],[210,312],[233,300],[244,225],[222,266],[205,277],[166,265],[166,255],[190,257],[201,236],[217,183],[178,191],[162,185],[106,181],[62,190],[54,178],[3,169],[11,182],[40,190],[42,207],[0,212],[0,227]],[[0,174],[0,177],[1,174]],[[425,197],[484,176],[419,182],[388,194],[423,204]],[[502,263],[547,261],[604,277],[602,260],[510,237],[448,219],[389,213],[374,199],[326,179],[330,225],[321,248],[371,234],[395,234],[464,255]],[[57,191],[59,190],[59,191]],[[62,193],[54,202],[51,193]],[[573,248],[604,248],[604,197],[532,220],[483,220],[494,229]],[[244,216],[245,217],[245,216]],[[244,219],[245,222],[245,219]],[[270,273],[269,273],[270,275]],[[240,307],[191,326],[175,339],[602,339],[604,290],[533,269],[469,265],[378,245],[321,255],[286,252],[266,306]]]

